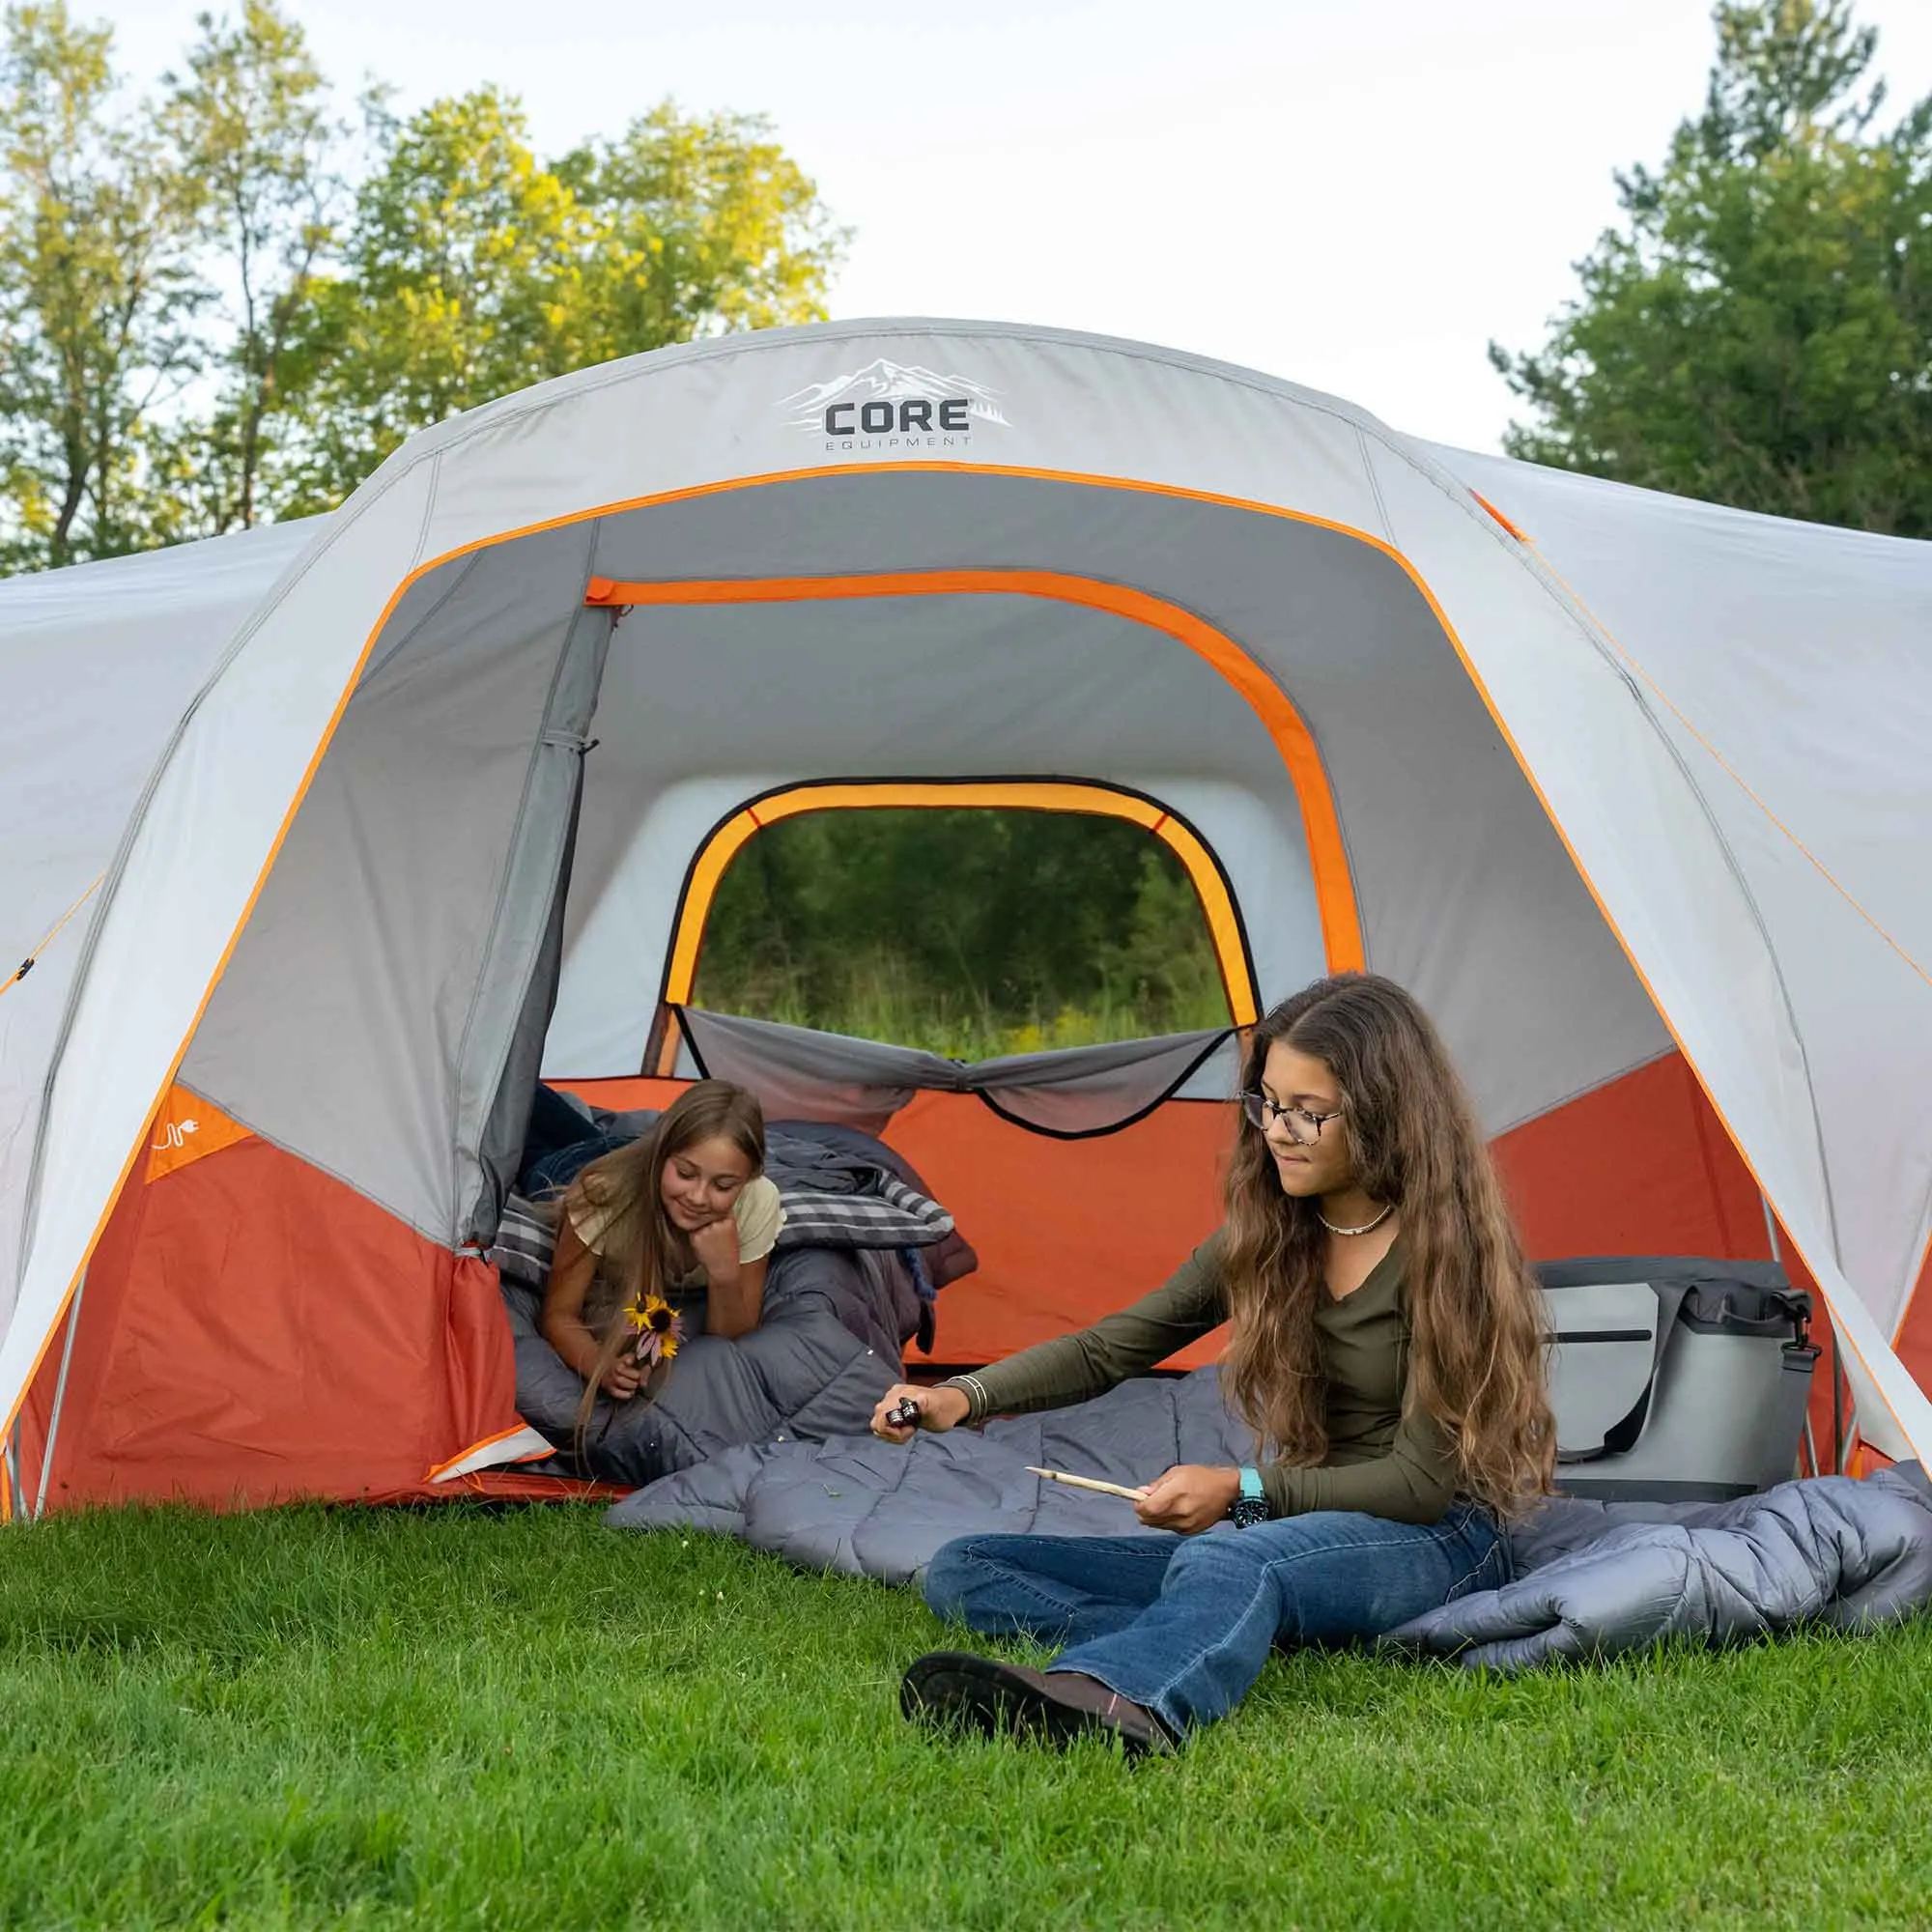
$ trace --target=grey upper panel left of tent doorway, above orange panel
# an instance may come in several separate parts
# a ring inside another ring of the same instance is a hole
[[[398,611],[402,638],[379,639],[184,1068],[444,1242],[475,1194],[570,810],[554,773],[574,773],[591,688],[558,667],[591,541],[578,526],[466,558]],[[564,748],[545,746],[553,726]],[[514,864],[533,810],[553,844],[541,879]]]

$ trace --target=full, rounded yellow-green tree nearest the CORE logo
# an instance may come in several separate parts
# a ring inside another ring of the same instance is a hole
[[[292,352],[290,508],[340,502],[406,435],[638,350],[821,317],[842,236],[757,120],[670,108],[554,168],[514,97],[377,122],[342,272]]]

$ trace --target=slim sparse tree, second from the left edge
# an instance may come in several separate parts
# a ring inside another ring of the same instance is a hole
[[[162,120],[197,191],[199,234],[218,263],[228,340],[207,415],[170,439],[162,471],[193,533],[249,527],[286,408],[284,355],[315,294],[344,184],[346,128],[328,104],[301,27],[272,0],[243,0],[230,25],[197,19],[185,75],[162,77]]]

